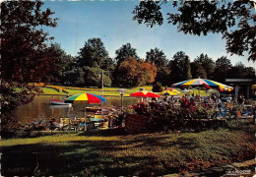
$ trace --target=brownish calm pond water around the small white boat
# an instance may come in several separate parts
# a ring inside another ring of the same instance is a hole
[[[17,120],[22,124],[30,124],[40,120],[59,120],[61,117],[85,117],[85,104],[72,104],[71,107],[66,105],[50,104],[51,95],[38,95],[34,97],[31,104],[24,105],[16,111]],[[104,106],[120,106],[121,97],[105,96]],[[54,99],[63,100],[64,96],[54,95]],[[123,106],[133,105],[138,102],[138,98],[123,97]],[[90,104],[88,106],[100,106],[100,104]]]

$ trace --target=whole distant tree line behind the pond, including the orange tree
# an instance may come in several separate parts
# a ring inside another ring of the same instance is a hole
[[[255,79],[255,69],[242,63],[234,66],[225,56],[214,61],[201,53],[193,61],[183,51],[176,52],[169,60],[159,48],[146,52],[145,59],[136,53],[130,43],[122,45],[110,58],[100,38],[90,38],[72,57],[65,54],[59,44],[54,44],[59,52],[59,70],[53,73],[52,82],[79,87],[101,87],[101,71],[105,87],[162,86],[192,78],[210,79],[224,83],[226,78]]]

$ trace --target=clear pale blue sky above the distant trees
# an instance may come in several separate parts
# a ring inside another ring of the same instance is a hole
[[[78,56],[80,48],[93,37],[98,37],[104,43],[111,58],[123,44],[131,43],[141,58],[146,58],[146,52],[158,47],[167,59],[172,59],[178,51],[184,51],[193,61],[201,53],[208,54],[216,61],[222,56],[230,59],[232,65],[242,62],[245,66],[256,69],[256,62],[247,61],[247,54],[237,56],[226,54],[225,40],[221,34],[209,33],[204,36],[178,32],[177,27],[168,24],[166,13],[171,10],[171,3],[163,6],[164,23],[154,28],[138,25],[133,21],[132,11],[137,0],[113,1],[45,1],[44,8],[55,12],[52,18],[58,18],[56,28],[44,28],[54,42],[61,45],[67,54]]]

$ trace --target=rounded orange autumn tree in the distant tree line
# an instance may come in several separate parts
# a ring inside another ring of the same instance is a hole
[[[138,87],[155,81],[157,68],[142,60],[128,57],[117,68],[119,87]],[[125,75],[124,75],[125,74]]]

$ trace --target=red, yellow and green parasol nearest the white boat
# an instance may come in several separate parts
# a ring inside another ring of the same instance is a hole
[[[105,102],[105,98],[93,93],[79,93],[79,94],[75,94],[72,95],[68,98],[65,99],[66,103],[90,103],[90,104],[94,104],[94,103],[101,103],[101,102]]]

